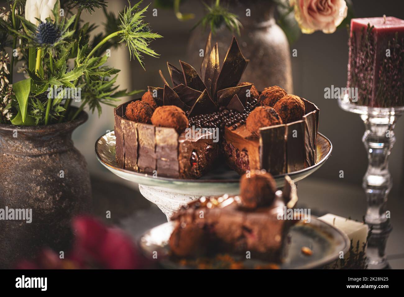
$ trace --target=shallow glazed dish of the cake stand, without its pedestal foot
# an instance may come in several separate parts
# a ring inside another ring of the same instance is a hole
[[[114,131],[101,136],[95,143],[95,154],[101,164],[109,171],[135,183],[147,186],[164,187],[175,190],[178,193],[221,196],[223,194],[237,195],[239,193],[239,179],[235,171],[219,162],[216,168],[204,175],[200,179],[175,179],[168,177],[153,177],[145,173],[138,173],[119,168],[115,158],[116,138]],[[315,165],[301,169],[299,171],[289,172],[281,175],[274,175],[277,187],[282,187],[285,175],[289,175],[295,182],[309,176],[319,169],[328,159],[332,151],[332,144],[328,138],[321,133],[317,134],[317,162]]]

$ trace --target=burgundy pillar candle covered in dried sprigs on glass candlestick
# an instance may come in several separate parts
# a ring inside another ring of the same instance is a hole
[[[404,20],[351,19],[347,86],[358,105],[404,106]]]

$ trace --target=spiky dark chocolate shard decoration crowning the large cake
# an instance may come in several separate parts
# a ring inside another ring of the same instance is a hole
[[[167,83],[161,71],[159,74],[164,82],[163,88],[149,86],[149,92],[157,105],[175,105],[189,111],[188,116],[209,114],[217,111],[217,106],[234,105],[231,109],[244,110],[247,103],[247,90],[252,84],[237,86],[248,61],[240,51],[236,38],[233,36],[226,57],[220,69],[217,43],[211,46],[212,35],[206,41],[204,57],[199,75],[194,67],[179,61],[181,70],[167,62],[168,72],[173,88]],[[203,78],[203,80],[202,80]],[[154,93],[152,93],[154,92]],[[243,108],[241,109],[241,105]]]

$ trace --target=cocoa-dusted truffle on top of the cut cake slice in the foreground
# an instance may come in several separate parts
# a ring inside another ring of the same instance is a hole
[[[241,205],[248,209],[271,206],[276,190],[276,183],[272,175],[265,170],[253,170],[240,179]]]

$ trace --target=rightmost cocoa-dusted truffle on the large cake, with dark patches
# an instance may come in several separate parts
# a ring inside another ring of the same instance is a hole
[[[305,113],[304,102],[296,95],[286,95],[274,106],[284,124],[301,120]]]

